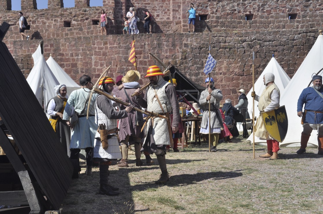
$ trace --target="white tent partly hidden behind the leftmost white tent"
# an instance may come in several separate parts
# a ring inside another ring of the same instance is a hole
[[[67,95],[69,96],[72,91],[80,89],[81,87],[74,82],[74,80],[68,76],[68,74],[58,65],[58,63],[50,56],[47,59],[47,64],[50,70],[53,72],[54,76],[57,78],[60,84],[65,84],[67,86]]]

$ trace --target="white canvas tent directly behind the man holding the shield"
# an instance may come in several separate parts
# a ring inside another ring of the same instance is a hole
[[[289,83],[290,78],[287,75],[287,73],[284,71],[284,69],[280,66],[280,64],[277,62],[275,57],[271,58],[271,60],[267,64],[266,68],[260,74],[257,81],[255,82],[255,93],[260,96],[261,93],[264,91],[266,86],[264,85],[263,78],[266,73],[273,73],[275,75],[275,84],[279,88],[280,94],[282,94],[282,92],[285,91],[285,88],[286,88],[287,84]],[[248,92],[247,99],[248,99],[248,112],[249,112],[250,117],[252,118],[251,92],[252,92],[252,89]],[[256,117],[259,116],[257,101],[255,101],[255,116]],[[251,142],[253,141],[252,134],[249,136],[248,140]],[[267,145],[266,141],[259,140],[259,138],[257,138],[257,137],[255,137],[255,144],[256,145]]]

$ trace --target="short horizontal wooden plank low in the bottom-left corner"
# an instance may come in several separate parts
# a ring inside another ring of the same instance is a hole
[[[28,200],[25,191],[7,191],[0,192],[1,205],[28,205]]]

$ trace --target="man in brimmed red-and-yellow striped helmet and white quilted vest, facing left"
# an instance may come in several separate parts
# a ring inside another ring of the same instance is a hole
[[[145,78],[149,78],[151,84],[147,88],[145,95],[141,96],[140,89],[135,91],[138,92],[136,100],[138,100],[141,107],[168,118],[165,119],[152,115],[147,117],[146,134],[141,149],[142,151],[156,154],[161,168],[161,176],[156,181],[157,184],[169,181],[165,160],[166,146],[172,145],[172,132],[176,133],[178,131],[179,123],[179,105],[176,91],[171,83],[163,79],[163,75],[158,66],[150,66]],[[171,112],[173,112],[172,124],[169,118]]]

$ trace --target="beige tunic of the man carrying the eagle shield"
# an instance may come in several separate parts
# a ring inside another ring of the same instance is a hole
[[[258,109],[260,112],[264,112],[266,107],[270,104],[271,93],[273,92],[274,89],[276,89],[277,92],[279,93],[279,89],[275,83],[267,86],[262,92],[261,96],[259,97],[259,103],[258,103]],[[277,107],[279,107],[279,105]],[[259,114],[257,122],[255,124],[255,136],[266,140],[272,139],[265,128],[264,120],[261,114]]]

